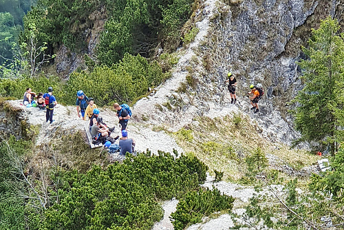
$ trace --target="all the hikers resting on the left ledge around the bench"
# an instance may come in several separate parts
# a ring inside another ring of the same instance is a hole
[[[94,103],[94,98],[87,97],[82,90],[76,93],[76,112],[79,118],[84,121],[89,119],[89,132],[92,136],[93,144],[107,143],[105,147],[109,148],[111,144],[114,144],[119,136],[112,138],[111,132],[114,132],[115,127],[109,128],[107,124],[103,122],[103,118],[99,116],[100,111],[97,105]],[[34,101],[34,98],[37,101]],[[27,88],[23,96],[23,105],[26,107],[39,107],[40,109],[46,109],[46,122],[53,123],[54,107],[57,105],[55,96],[52,94],[52,87],[48,87],[47,93],[32,92],[31,88]],[[119,141],[120,155],[125,155],[128,151],[133,153],[135,147],[135,140],[128,138],[127,125],[131,118],[131,109],[129,105],[114,103],[114,109],[116,109],[116,116],[118,116],[119,124],[121,127],[122,137]],[[110,143],[110,145],[109,145]]]

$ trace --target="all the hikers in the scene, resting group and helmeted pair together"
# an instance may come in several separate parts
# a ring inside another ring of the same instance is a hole
[[[237,96],[235,94],[235,87],[237,85],[237,79],[233,76],[231,72],[227,74],[228,79],[225,83],[228,83],[228,90],[230,92],[230,103],[237,103]],[[250,85],[250,92],[248,92],[248,98],[250,99],[250,104],[252,105],[251,110],[255,110],[255,113],[259,112],[258,101],[263,96],[264,90],[260,83],[257,85]],[[103,118],[99,116],[99,109],[94,103],[94,98],[87,97],[82,90],[76,93],[76,112],[79,118],[84,121],[89,119],[89,132],[92,136],[93,144],[103,143],[105,147],[109,148],[115,143],[119,136],[115,138],[111,137],[111,132],[114,132],[115,127],[108,127],[107,124],[103,122]],[[34,98],[37,98],[37,102]],[[52,94],[52,87],[48,87],[47,93],[43,94],[40,92],[38,95],[32,92],[31,88],[27,88],[23,96],[23,105],[30,107],[39,107],[40,109],[46,109],[46,122],[53,123],[54,107],[57,105],[55,96]],[[135,140],[133,138],[128,138],[127,125],[131,118],[131,109],[129,105],[114,103],[114,109],[116,109],[116,116],[118,116],[118,123],[121,127],[122,137],[119,141],[120,154],[125,155],[128,151],[133,153],[135,147]]]

